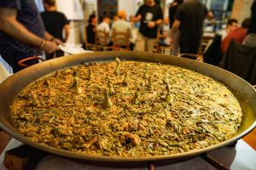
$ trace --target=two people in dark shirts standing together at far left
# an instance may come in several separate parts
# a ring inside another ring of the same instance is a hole
[[[58,45],[67,41],[68,20],[56,11],[55,0],[43,3],[45,11],[40,14],[34,0],[0,1],[0,54],[14,73],[23,69],[18,65],[21,59],[43,53],[51,59],[56,51],[62,55]],[[26,61],[26,65],[37,63],[38,59]]]

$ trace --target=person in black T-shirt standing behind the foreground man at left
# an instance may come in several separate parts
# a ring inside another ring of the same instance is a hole
[[[69,37],[69,22],[67,17],[65,14],[57,11],[55,0],[44,0],[43,3],[45,11],[41,13],[41,16],[44,21],[45,30],[48,31],[53,38],[67,42],[67,38]],[[63,30],[65,31],[64,37]],[[52,59],[54,55],[60,57],[64,55],[64,52],[58,50],[55,54],[46,54],[46,59]]]

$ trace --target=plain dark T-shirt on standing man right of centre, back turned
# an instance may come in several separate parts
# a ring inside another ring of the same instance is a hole
[[[181,22],[180,42],[201,42],[207,14],[207,7],[197,0],[187,1],[177,8],[174,18]]]

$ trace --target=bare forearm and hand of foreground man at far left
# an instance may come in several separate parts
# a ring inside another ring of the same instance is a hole
[[[44,41],[41,37],[28,31],[20,24],[17,17],[17,10],[14,8],[0,8],[0,30],[20,42],[26,42],[36,48],[42,48],[46,53],[54,52],[58,47],[53,42]],[[12,28],[12,29],[9,29]]]

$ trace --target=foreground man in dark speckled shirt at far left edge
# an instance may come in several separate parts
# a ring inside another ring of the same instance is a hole
[[[20,71],[20,59],[41,55],[41,51],[52,53],[59,41],[50,42],[52,38],[44,31],[38,8],[34,0],[0,1],[0,54],[13,71]],[[44,38],[46,40],[44,40]],[[27,65],[38,60],[27,62]]]

